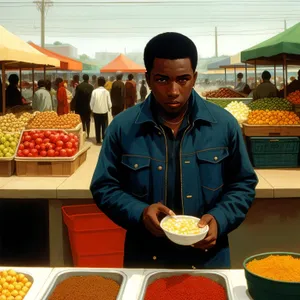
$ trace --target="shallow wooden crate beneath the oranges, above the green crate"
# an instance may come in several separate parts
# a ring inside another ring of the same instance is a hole
[[[300,136],[300,125],[248,125],[243,124],[245,136]]]

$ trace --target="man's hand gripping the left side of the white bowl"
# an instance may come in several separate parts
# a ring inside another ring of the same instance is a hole
[[[159,223],[166,215],[175,216],[172,210],[161,203],[155,203],[146,207],[143,212],[145,227],[155,236],[164,236]]]

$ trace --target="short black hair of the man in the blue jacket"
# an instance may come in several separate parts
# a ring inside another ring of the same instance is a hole
[[[196,71],[198,52],[194,42],[177,32],[166,32],[152,38],[144,50],[144,63],[147,72],[151,72],[155,58],[189,58],[193,71]]]

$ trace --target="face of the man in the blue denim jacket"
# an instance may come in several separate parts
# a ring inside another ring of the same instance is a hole
[[[166,113],[176,114],[185,108],[197,79],[191,60],[155,58],[151,73],[146,74],[152,93]]]

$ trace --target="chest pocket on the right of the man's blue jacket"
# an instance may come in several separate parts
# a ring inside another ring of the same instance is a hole
[[[208,149],[197,153],[200,184],[212,192],[223,186],[224,161],[228,157],[227,148]]]

